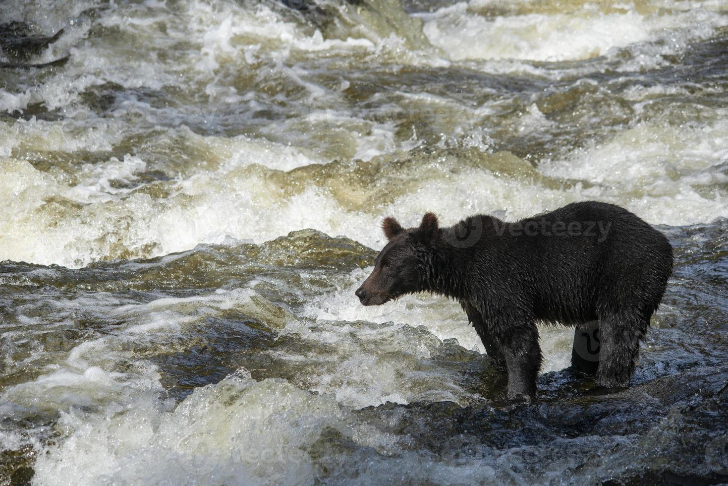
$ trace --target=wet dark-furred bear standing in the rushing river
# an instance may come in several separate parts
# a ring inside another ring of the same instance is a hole
[[[529,235],[523,232],[528,222],[579,222],[583,231]],[[609,228],[588,232],[587,222]],[[478,215],[440,228],[428,213],[417,228],[405,230],[392,218],[383,227],[389,243],[357,297],[364,305],[418,291],[457,299],[488,356],[505,365],[509,398],[536,393],[537,321],[582,326],[598,320],[597,382],[628,386],[639,342],[672,273],[667,238],[606,203],[572,203],[515,223]]]

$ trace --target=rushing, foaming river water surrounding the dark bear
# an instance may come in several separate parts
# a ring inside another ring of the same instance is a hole
[[[2,1],[0,485],[727,482],[727,114],[725,0]],[[628,390],[354,296],[587,199],[675,248]]]

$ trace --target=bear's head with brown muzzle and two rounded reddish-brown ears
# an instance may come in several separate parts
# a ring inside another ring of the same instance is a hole
[[[422,291],[432,263],[432,243],[440,233],[438,217],[427,213],[419,227],[405,230],[396,219],[381,224],[389,240],[374,261],[374,270],[356,291],[363,305],[381,305]]]

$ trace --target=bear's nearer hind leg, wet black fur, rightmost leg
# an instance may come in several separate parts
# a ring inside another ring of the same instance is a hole
[[[634,374],[639,342],[649,325],[629,313],[613,313],[601,318],[600,358],[597,384],[605,388],[626,388]]]

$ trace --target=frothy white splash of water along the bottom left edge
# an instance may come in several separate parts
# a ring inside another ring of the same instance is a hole
[[[391,442],[327,397],[245,372],[198,388],[175,409],[137,399],[106,415],[65,414],[60,426],[71,435],[39,455],[34,482],[298,484],[317,476],[309,451],[327,430],[357,447]]]

